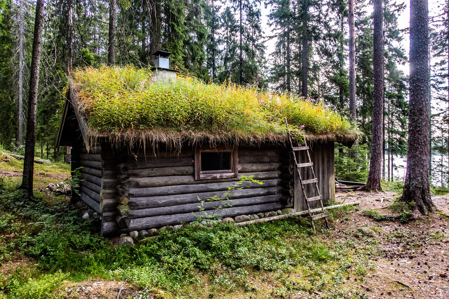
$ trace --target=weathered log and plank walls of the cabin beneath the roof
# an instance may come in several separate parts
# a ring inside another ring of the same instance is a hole
[[[265,144],[238,147],[238,177],[195,180],[195,148],[180,152],[119,152],[110,143],[96,144],[89,151],[84,143],[72,147],[72,170],[80,168],[79,197],[101,213],[100,233],[114,235],[166,225],[189,223],[199,214],[198,197],[224,196],[241,175],[253,175],[263,185],[233,191],[220,217],[257,214],[282,208],[304,210],[305,202],[295,175],[289,147]],[[311,159],[323,199],[334,199],[334,144],[313,143]],[[300,157],[303,159],[303,157]],[[308,176],[310,173],[302,173]],[[299,188],[295,188],[298,186]],[[309,193],[308,193],[309,194]],[[72,200],[76,201],[76,194]],[[296,198],[296,200],[294,200]],[[217,202],[205,202],[211,214]],[[311,208],[313,208],[311,206]],[[217,213],[217,210],[215,210]]]

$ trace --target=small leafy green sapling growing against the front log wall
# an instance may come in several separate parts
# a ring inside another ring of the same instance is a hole
[[[207,199],[200,199],[198,196],[198,200],[200,202],[200,205],[198,206],[200,215],[196,215],[194,212],[192,212],[192,214],[194,214],[197,219],[197,220],[193,221],[193,223],[200,223],[201,221],[216,222],[216,221],[222,219],[220,217],[220,211],[226,210],[227,208],[231,208],[233,206],[233,204],[229,201],[229,197],[235,196],[232,194],[232,192],[235,190],[242,190],[245,187],[251,188],[251,186],[249,186],[250,184],[263,185],[264,183],[260,182],[258,180],[255,180],[253,175],[251,175],[251,176],[242,175],[242,176],[240,176],[240,181],[238,181],[236,185],[228,187],[229,192],[223,193],[223,195],[225,195],[223,197],[214,195]],[[204,211],[206,209],[206,208],[204,208],[205,202],[217,202],[217,205],[215,207],[211,208],[212,209],[211,214]]]

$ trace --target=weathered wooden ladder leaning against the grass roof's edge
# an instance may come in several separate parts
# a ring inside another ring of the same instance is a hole
[[[315,224],[313,223],[314,220],[316,219],[320,219],[320,218],[324,218],[326,220],[326,226],[329,227],[329,223],[327,222],[327,213],[324,212],[324,206],[323,206],[323,195],[320,194],[320,189],[318,189],[318,179],[315,177],[315,172],[313,171],[313,162],[312,160],[310,160],[310,155],[309,155],[309,147],[307,146],[307,144],[305,144],[304,142],[304,146],[302,147],[294,147],[293,143],[291,141],[291,135],[290,135],[290,128],[288,126],[287,123],[287,118],[285,118],[285,124],[287,126],[287,135],[288,135],[288,141],[290,143],[291,146],[291,150],[293,152],[293,160],[295,161],[295,169],[296,172],[298,173],[298,178],[299,178],[299,183],[301,184],[301,189],[303,190],[303,194],[304,194],[304,199],[306,201],[306,205],[307,205],[307,210],[309,212],[309,216],[310,219],[312,220],[312,228],[313,231],[315,230]],[[296,160],[296,151],[306,151],[307,152],[307,158],[308,158],[308,162],[306,163],[298,163]],[[310,170],[312,170],[312,175],[313,175],[313,179],[311,180],[304,180],[301,178],[301,172],[299,171],[300,168],[302,167],[310,167]],[[315,183],[315,190],[317,191],[317,196],[314,197],[307,197],[306,191],[304,189],[304,185],[305,184],[313,184]],[[312,212],[310,211],[310,206],[309,206],[309,202],[311,201],[315,201],[315,200],[319,200],[320,204],[321,204],[321,214],[317,214],[317,215],[312,215]]]

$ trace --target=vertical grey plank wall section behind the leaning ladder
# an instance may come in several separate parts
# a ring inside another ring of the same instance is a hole
[[[323,195],[323,203],[326,200],[335,200],[335,159],[334,159],[334,142],[318,142],[312,143],[309,150],[310,159],[313,162],[313,170],[315,176],[318,178],[318,188],[321,195]],[[299,151],[298,163],[307,162],[305,151]],[[312,179],[312,172],[310,167],[304,167],[301,169],[301,177],[303,180]],[[305,190],[308,197],[317,196],[315,191],[315,184],[306,184]],[[313,201],[309,203],[310,208],[318,208],[319,201]],[[295,201],[294,208],[297,211],[307,210],[306,202],[304,200],[303,191],[299,185],[299,178],[295,172]]]

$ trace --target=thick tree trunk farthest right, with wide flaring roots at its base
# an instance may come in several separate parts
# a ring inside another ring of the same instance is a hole
[[[413,219],[435,205],[429,180],[429,47],[427,0],[410,0],[410,100],[407,170],[401,200],[415,202]]]

